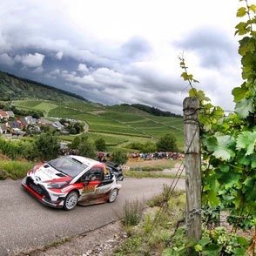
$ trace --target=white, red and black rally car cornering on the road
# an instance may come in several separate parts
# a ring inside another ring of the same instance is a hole
[[[103,163],[79,156],[65,156],[33,167],[22,185],[44,205],[72,210],[118,197],[121,185]]]

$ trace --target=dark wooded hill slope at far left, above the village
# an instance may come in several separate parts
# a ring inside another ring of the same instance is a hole
[[[30,79],[16,77],[0,71],[0,100],[20,98],[42,98],[54,101],[86,101],[84,97],[51,85],[37,83]]]

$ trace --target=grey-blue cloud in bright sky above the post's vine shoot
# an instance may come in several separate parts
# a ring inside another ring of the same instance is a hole
[[[227,63],[236,62],[239,57],[238,45],[225,31],[209,27],[192,30],[173,45],[182,51],[194,51],[199,57],[201,67],[206,69],[219,69]]]

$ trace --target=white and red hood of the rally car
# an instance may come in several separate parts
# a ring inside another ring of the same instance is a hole
[[[50,165],[38,165],[32,177],[38,183],[42,182],[61,182],[61,181],[68,181],[72,178],[65,175],[63,172],[57,171],[55,168],[51,167]]]

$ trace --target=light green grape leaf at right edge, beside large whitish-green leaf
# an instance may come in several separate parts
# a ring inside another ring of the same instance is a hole
[[[237,138],[237,149],[245,149],[246,156],[253,154],[256,144],[256,131],[243,131]]]

